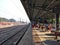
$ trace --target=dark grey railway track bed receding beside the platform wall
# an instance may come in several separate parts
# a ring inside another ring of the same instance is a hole
[[[15,26],[0,31],[0,45],[17,45],[28,26]]]

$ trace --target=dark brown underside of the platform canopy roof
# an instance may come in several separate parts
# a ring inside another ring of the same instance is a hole
[[[21,0],[30,20],[35,18],[54,18],[60,13],[60,0]]]

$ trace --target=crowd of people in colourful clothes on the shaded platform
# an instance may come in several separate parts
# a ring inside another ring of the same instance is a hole
[[[41,29],[42,31],[51,31],[52,29],[52,24],[48,23],[47,20],[44,20],[44,23],[36,23],[36,24],[32,24],[33,28],[38,28]]]

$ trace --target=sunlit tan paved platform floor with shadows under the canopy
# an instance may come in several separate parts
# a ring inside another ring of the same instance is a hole
[[[33,29],[33,42],[35,45],[60,45],[55,40],[55,36],[51,32],[40,32],[40,30]]]

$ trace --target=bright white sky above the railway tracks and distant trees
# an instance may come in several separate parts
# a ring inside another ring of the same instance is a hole
[[[30,22],[20,0],[0,0],[0,17]]]

